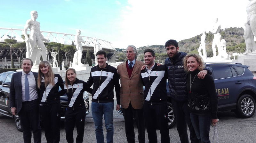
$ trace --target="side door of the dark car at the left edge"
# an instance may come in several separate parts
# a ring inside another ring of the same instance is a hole
[[[3,91],[4,87],[2,86],[2,84],[6,79],[6,76],[7,74],[0,75],[0,111],[4,114],[9,114],[8,105],[6,104],[6,101],[5,101],[6,95],[5,95],[5,92]]]

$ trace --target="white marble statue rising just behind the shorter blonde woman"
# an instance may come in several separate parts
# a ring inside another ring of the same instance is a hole
[[[81,35],[81,31],[77,30],[76,32],[76,36],[75,36],[75,44],[76,44],[76,49],[77,51],[74,54],[74,58],[73,58],[73,67],[76,65],[84,65],[83,63],[81,63],[81,59],[82,59],[82,55],[83,55],[83,46],[82,43],[84,43],[84,39],[82,38]]]

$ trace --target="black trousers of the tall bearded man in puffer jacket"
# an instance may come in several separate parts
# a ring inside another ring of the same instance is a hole
[[[173,107],[174,116],[176,118],[177,130],[180,136],[180,142],[189,143],[188,132],[187,132],[187,124],[188,124],[191,143],[199,143],[199,140],[196,138],[196,133],[190,120],[190,115],[188,110],[188,101],[179,102],[179,101],[172,100],[172,107]]]

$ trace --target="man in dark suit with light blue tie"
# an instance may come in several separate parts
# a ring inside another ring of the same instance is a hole
[[[13,115],[19,115],[24,143],[31,143],[31,131],[34,143],[41,143],[37,73],[31,72],[32,66],[33,61],[25,58],[21,62],[22,72],[12,75],[10,107]]]

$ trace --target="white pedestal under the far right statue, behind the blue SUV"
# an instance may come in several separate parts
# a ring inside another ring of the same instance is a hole
[[[240,55],[237,56],[237,60],[233,62],[242,63],[243,65],[250,66],[251,72],[256,72],[256,54]]]

